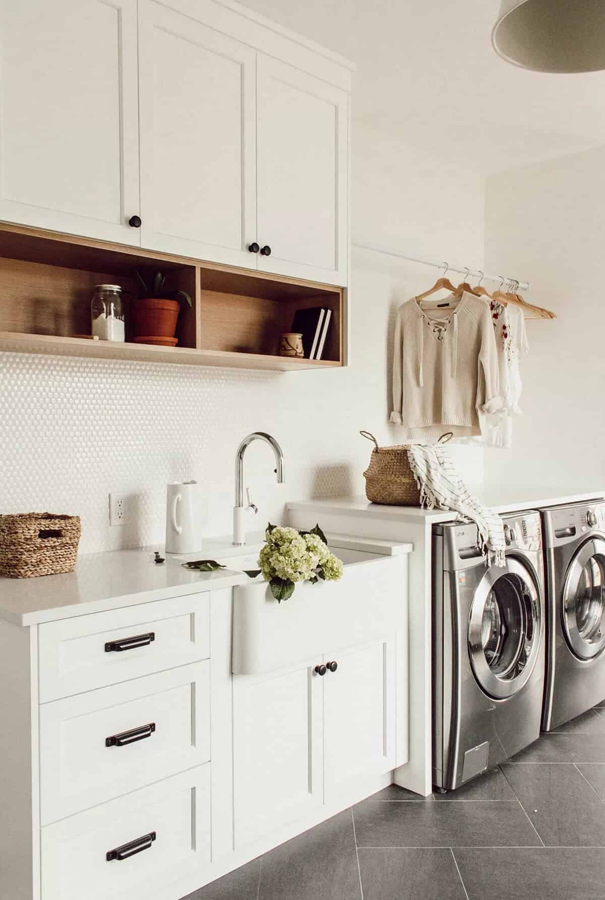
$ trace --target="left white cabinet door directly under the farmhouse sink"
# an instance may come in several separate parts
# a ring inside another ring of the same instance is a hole
[[[323,803],[322,681],[314,665],[233,677],[237,849]]]

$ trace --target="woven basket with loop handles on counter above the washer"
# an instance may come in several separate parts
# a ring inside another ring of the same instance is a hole
[[[408,459],[408,448],[412,445],[381,447],[369,431],[360,431],[359,434],[368,441],[373,441],[375,445],[370,464],[364,473],[367,499],[372,503],[384,503],[389,506],[420,507],[420,488]],[[446,444],[452,437],[454,435],[448,431],[439,437],[438,443]]]

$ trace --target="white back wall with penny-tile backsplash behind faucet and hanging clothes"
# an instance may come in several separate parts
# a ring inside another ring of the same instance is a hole
[[[480,266],[483,184],[357,123],[352,229],[359,240]],[[0,354],[0,512],[79,514],[84,552],[159,543],[166,482],[194,477],[208,487],[207,534],[226,534],[235,451],[254,429],[282,444],[287,482],[275,484],[266,445],[249,448],[254,527],[279,518],[284,500],[363,493],[371,446],[359,429],[398,442],[386,424],[389,322],[436,275],[355,253],[352,365],[343,370],[264,374]],[[480,480],[481,453],[459,455],[469,480]],[[134,527],[109,527],[109,491],[137,495]]]

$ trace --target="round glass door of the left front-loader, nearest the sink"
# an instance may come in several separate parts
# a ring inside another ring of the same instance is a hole
[[[491,697],[518,693],[533,671],[542,608],[531,572],[515,559],[485,572],[475,591],[468,643],[474,677]]]

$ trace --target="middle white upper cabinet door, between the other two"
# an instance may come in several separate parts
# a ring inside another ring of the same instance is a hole
[[[140,3],[141,245],[256,268],[255,51]]]

